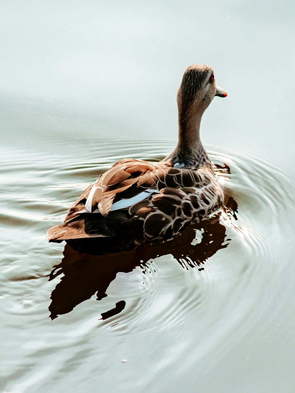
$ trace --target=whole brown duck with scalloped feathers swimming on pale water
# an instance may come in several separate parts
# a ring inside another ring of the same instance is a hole
[[[90,184],[61,225],[47,232],[49,242],[66,241],[79,252],[135,250],[166,242],[189,224],[221,208],[223,193],[200,140],[203,113],[216,86],[210,66],[193,64],[177,90],[178,143],[160,162],[120,160]]]

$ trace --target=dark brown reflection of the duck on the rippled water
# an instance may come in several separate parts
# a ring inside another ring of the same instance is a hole
[[[230,197],[225,208],[226,214],[236,219],[237,207]],[[50,318],[53,320],[60,314],[72,311],[76,305],[90,299],[95,293],[97,300],[105,298],[106,290],[118,272],[131,272],[136,266],[140,266],[145,272],[147,262],[162,255],[173,255],[184,268],[190,266],[203,270],[205,261],[229,244],[230,239],[225,243],[226,228],[221,224],[221,214],[219,212],[210,219],[188,226],[180,236],[169,242],[144,246],[134,251],[90,255],[74,251],[66,245],[61,263],[54,266],[49,275],[49,280],[53,280],[63,274],[52,291]],[[196,230],[202,233],[200,242],[195,240]],[[102,319],[118,314],[124,307],[124,300],[116,303],[114,309],[101,313]]]

